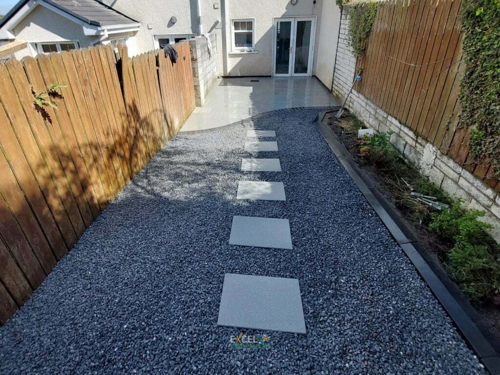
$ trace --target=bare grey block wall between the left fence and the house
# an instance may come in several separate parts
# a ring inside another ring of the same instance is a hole
[[[211,56],[208,53],[207,40],[204,36],[195,36],[189,39],[196,106],[205,103],[206,94],[217,79],[217,45],[213,33],[210,34],[210,42]]]

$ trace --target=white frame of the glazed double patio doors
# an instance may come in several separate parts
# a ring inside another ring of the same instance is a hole
[[[275,59],[276,59],[276,36],[277,36],[277,21],[278,20],[285,20],[285,21],[291,21],[291,35],[290,35],[290,64],[288,66],[288,73],[282,73],[282,74],[276,74],[276,65],[275,65]],[[295,70],[295,30],[296,30],[296,23],[297,21],[312,21],[311,22],[311,39],[310,39],[310,45],[309,45],[309,65],[307,66],[307,72],[306,73],[293,73],[293,70]],[[317,21],[317,16],[316,15],[304,15],[304,16],[293,16],[293,17],[273,17],[272,18],[272,66],[271,66],[271,75],[273,77],[289,77],[289,76],[311,76],[312,75],[312,65],[314,63],[314,44],[316,40],[316,21]]]

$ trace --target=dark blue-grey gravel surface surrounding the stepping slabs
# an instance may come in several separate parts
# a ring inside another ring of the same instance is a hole
[[[483,373],[315,114],[173,138],[0,328],[0,373]],[[239,170],[251,126],[276,130],[258,157],[281,172]],[[282,181],[286,201],[237,201],[241,179]],[[293,250],[228,245],[233,215],[289,219]],[[298,278],[307,335],[228,348],[226,272]]]

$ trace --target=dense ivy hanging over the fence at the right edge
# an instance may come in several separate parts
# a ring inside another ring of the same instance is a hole
[[[460,82],[461,126],[473,129],[474,161],[500,177],[500,0],[462,2],[465,73]]]

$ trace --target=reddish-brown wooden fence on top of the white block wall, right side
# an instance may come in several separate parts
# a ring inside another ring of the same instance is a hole
[[[469,133],[459,127],[463,75],[460,0],[392,0],[381,3],[358,59],[356,90],[417,135],[500,190],[490,165],[468,159]]]

